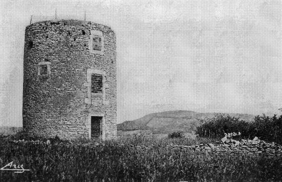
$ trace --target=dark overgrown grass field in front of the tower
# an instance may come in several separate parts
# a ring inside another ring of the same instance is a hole
[[[0,181],[279,181],[282,158],[173,150],[167,145],[212,143],[216,139],[121,137],[13,142],[0,138],[1,167],[13,161],[24,173],[0,171]],[[137,146],[147,146],[139,148]]]

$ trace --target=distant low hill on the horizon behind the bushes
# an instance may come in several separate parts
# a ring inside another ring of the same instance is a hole
[[[219,113],[198,113],[193,111],[167,111],[145,115],[139,119],[126,121],[117,125],[118,132],[136,133],[171,133],[183,131],[193,133],[200,125],[200,119],[212,118]],[[227,113],[226,113],[227,114]],[[229,114],[232,117],[251,121],[251,114]],[[138,133],[138,132],[137,132]]]

